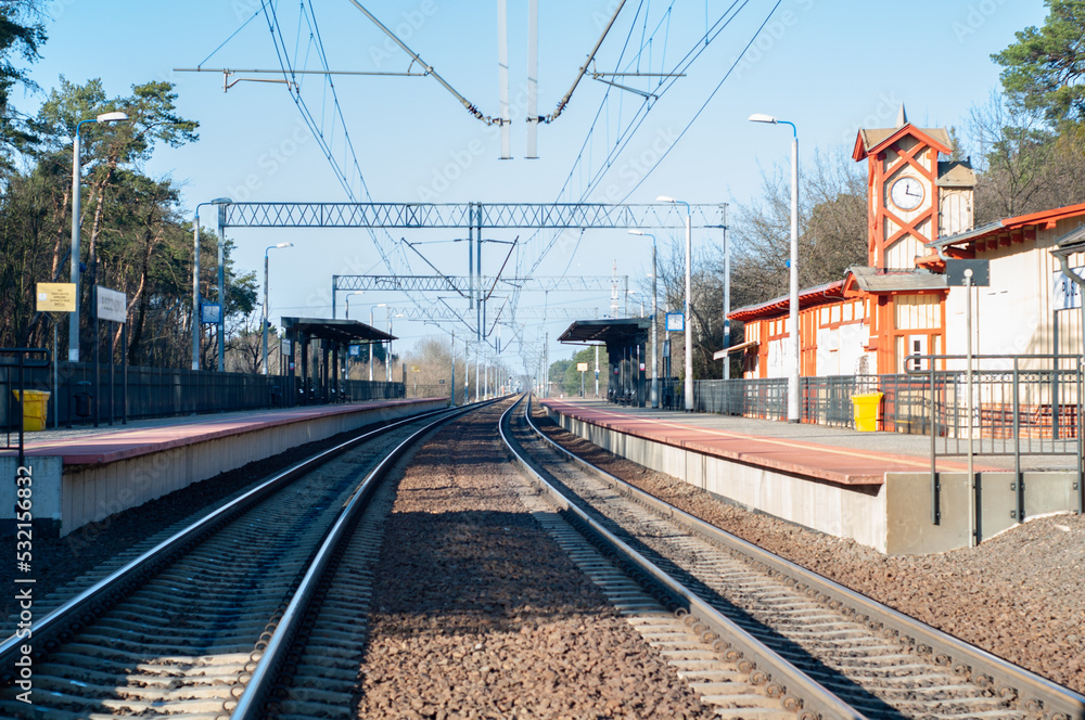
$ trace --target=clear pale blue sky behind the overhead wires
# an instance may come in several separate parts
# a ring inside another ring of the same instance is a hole
[[[480,110],[498,114],[496,2],[374,0],[362,4],[400,33],[412,50]],[[526,4],[509,0],[514,107],[526,76]],[[547,114],[567,90],[617,2],[554,0],[540,5],[539,112]],[[959,126],[970,107],[984,103],[998,88],[999,68],[991,53],[1012,42],[1014,31],[1042,24],[1045,15],[1039,0],[918,0],[907,4],[781,0],[775,11],[774,5],[776,0],[733,5],[741,8],[735,20],[703,48],[687,76],[654,101],[624,151],[611,158],[609,171],[588,201],[602,202],[607,193],[616,193],[628,195],[627,202],[652,202],[660,194],[697,203],[749,202],[762,168],[788,163],[790,152],[788,128],[751,124],[746,121],[751,113],[794,121],[803,158],[815,149],[850,152],[858,127],[891,126],[901,102],[917,124]],[[628,37],[621,69],[638,65],[641,72],[669,69],[677,57],[697,47],[697,38],[705,31],[705,17],[711,25],[732,5],[715,0],[674,3],[669,13],[668,7],[628,0],[598,54],[597,68],[614,70]],[[333,69],[407,69],[407,56],[386,42],[348,0],[314,0],[312,8]],[[252,201],[345,201],[343,188],[283,85],[246,81],[224,92],[221,74],[175,72],[201,63],[204,67],[279,67],[263,13],[239,30],[259,9],[259,0],[53,0],[49,3],[49,41],[42,60],[31,68],[33,77],[44,90],[60,75],[75,82],[100,77],[112,95],[152,79],[175,82],[179,113],[201,124],[201,139],[186,147],[159,151],[146,170],[181,184],[188,208],[224,195]],[[296,57],[292,62],[316,67],[309,30],[302,26],[298,31],[297,7],[280,3],[277,16],[288,38],[288,55]],[[630,27],[634,17],[637,23]],[[644,27],[643,35],[652,42],[644,44],[639,60],[630,61],[641,48]],[[653,27],[660,28],[654,36]],[[616,144],[618,129],[642,104],[640,95],[612,90],[601,105],[607,86],[586,78],[561,116],[539,129],[539,159],[523,158],[524,124],[516,123],[514,159],[500,160],[498,134],[471,117],[433,78],[341,76],[334,83],[368,188],[374,200],[390,202],[575,200],[584,191],[580,178],[599,170]],[[643,79],[630,81],[635,83],[649,87]],[[318,115],[323,108],[324,117],[331,117],[320,77],[306,77],[301,92]],[[16,101],[33,112],[41,97]],[[584,160],[575,166],[597,111],[602,120]],[[323,128],[341,151],[342,126],[326,119]],[[646,178],[646,168],[664,149],[669,153]],[[346,157],[341,152],[336,156]],[[573,182],[559,195],[571,169]],[[492,236],[511,240],[518,232]],[[436,243],[452,234],[418,233],[407,239]],[[231,236],[238,244],[239,263],[253,270],[261,269],[267,245],[294,243],[293,248],[272,256],[272,318],[329,317],[328,287],[333,273],[382,271],[363,232],[238,230]],[[522,233],[521,240],[525,236]],[[695,242],[706,240],[711,239]],[[429,245],[425,252],[446,272],[464,273],[463,250],[462,243],[444,243]],[[497,270],[497,256],[487,249],[487,272]],[[579,244],[559,243],[539,272],[559,274],[567,266],[573,274],[609,275],[616,262],[618,274],[630,275],[630,286],[635,286],[635,278],[650,273],[650,257],[648,243],[624,233],[597,232],[586,234]],[[427,272],[422,267],[416,271]],[[356,307],[407,303],[393,294],[352,299]],[[600,312],[608,312],[610,306],[609,293],[546,300],[524,296],[521,306],[544,301],[598,307]],[[536,342],[549,332],[552,339],[567,324],[565,320],[545,326],[533,322],[525,338]],[[434,329],[400,322],[396,334],[410,345],[434,335]],[[570,350],[551,345],[551,358],[566,357]],[[514,357],[507,362],[521,368]]]

